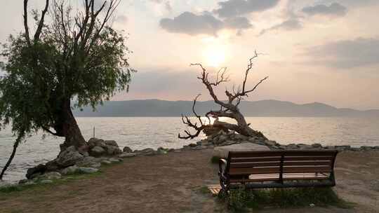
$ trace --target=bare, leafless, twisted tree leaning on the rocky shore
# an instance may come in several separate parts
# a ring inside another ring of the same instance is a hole
[[[246,123],[246,120],[244,118],[244,115],[241,114],[241,111],[239,111],[239,104],[241,103],[241,100],[244,99],[244,97],[248,97],[248,94],[253,92],[256,88],[258,88],[258,85],[265,81],[267,77],[262,78],[258,83],[255,84],[255,86],[251,89],[246,88],[246,81],[248,78],[248,74],[250,73],[252,67],[253,67],[253,60],[258,57],[258,53],[255,51],[254,56],[250,58],[248,67],[245,71],[244,81],[241,85],[241,88],[234,90],[230,92],[229,90],[225,90],[225,95],[227,96],[227,101],[221,101],[217,95],[215,95],[214,88],[216,88],[221,83],[225,83],[229,81],[228,77],[226,76],[226,67],[223,67],[220,69],[217,73],[217,76],[215,78],[215,81],[210,81],[208,79],[209,73],[206,71],[206,69],[201,64],[191,64],[191,66],[198,66],[201,68],[201,76],[198,76],[197,78],[201,80],[201,83],[203,83],[206,86],[206,89],[209,92],[209,95],[213,98],[215,104],[218,104],[220,106],[220,110],[218,111],[208,111],[205,116],[208,118],[208,123],[203,121],[201,119],[201,116],[197,114],[195,111],[195,106],[197,102],[197,98],[200,95],[197,95],[197,97],[194,98],[194,102],[192,104],[192,112],[194,113],[194,116],[197,118],[198,123],[194,123],[191,121],[190,118],[187,116],[182,115],[182,122],[187,125],[189,128],[193,128],[196,132],[191,133],[188,130],[185,130],[185,136],[181,136],[180,134],[178,137],[180,139],[193,139],[195,137],[198,137],[201,133],[201,131],[206,132],[210,129],[216,129],[216,130],[224,130],[224,131],[235,131],[238,132],[241,135],[249,136],[249,137],[264,137],[261,132],[253,130],[251,128],[250,123]],[[210,117],[215,118],[215,121],[211,123]],[[227,123],[223,121],[219,121],[218,118],[226,117],[226,118],[232,118],[234,119],[237,124],[233,123]]]

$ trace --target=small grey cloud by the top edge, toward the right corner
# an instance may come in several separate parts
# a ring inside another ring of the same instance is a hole
[[[333,3],[329,6],[318,4],[315,6],[307,6],[302,8],[302,13],[307,15],[327,15],[337,17],[346,15],[347,8],[338,3]]]

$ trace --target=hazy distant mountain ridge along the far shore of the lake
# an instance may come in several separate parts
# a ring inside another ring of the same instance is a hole
[[[277,100],[241,102],[240,109],[245,116],[298,116],[298,117],[378,117],[379,110],[359,111],[355,109],[338,109],[327,104],[294,104]],[[210,109],[218,110],[213,101],[197,102],[196,110],[205,114]],[[130,100],[105,102],[96,111],[84,107],[83,111],[75,110],[76,116],[180,116],[192,115],[192,101],[164,101],[159,99]]]

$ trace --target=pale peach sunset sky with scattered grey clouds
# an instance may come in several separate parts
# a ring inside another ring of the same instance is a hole
[[[1,1],[4,42],[22,30],[22,1]],[[29,10],[43,6],[29,0]],[[230,82],[217,89],[224,99],[256,50],[246,85],[269,78],[248,100],[379,109],[378,11],[377,0],[121,0],[112,26],[128,36],[138,72],[130,91],[112,99],[211,99],[191,63],[211,74],[227,67]]]

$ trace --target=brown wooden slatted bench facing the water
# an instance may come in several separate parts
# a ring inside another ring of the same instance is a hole
[[[221,190],[246,188],[335,186],[338,151],[230,151],[220,159]]]

